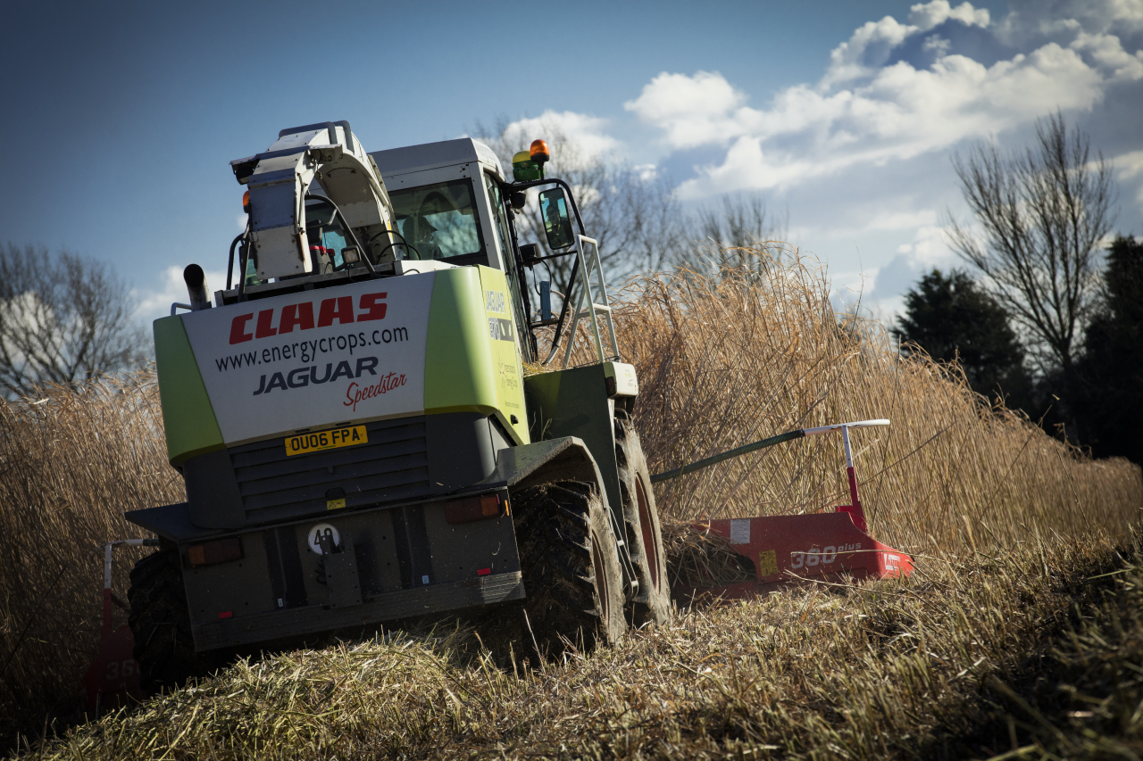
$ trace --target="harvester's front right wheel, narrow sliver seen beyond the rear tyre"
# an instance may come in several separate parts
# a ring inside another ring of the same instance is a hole
[[[624,538],[639,579],[639,594],[628,601],[628,610],[636,626],[648,622],[665,624],[671,620],[672,608],[663,530],[642,442],[626,412],[620,412],[615,418],[615,462],[620,468]]]

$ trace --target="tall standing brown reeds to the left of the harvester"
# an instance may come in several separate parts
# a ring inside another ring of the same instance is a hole
[[[125,511],[183,494],[152,375],[0,402],[0,736],[69,707],[98,642],[97,546],[142,536]],[[120,595],[139,554],[117,551]]]

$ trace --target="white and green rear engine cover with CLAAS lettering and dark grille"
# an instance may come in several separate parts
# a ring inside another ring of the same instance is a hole
[[[190,520],[240,528],[432,498],[527,443],[502,272],[375,279],[155,321],[168,454]],[[289,456],[302,434],[367,441]]]

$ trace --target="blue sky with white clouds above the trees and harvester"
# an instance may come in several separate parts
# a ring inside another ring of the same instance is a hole
[[[95,257],[150,321],[245,224],[229,162],[349,120],[366,150],[545,119],[687,208],[757,192],[885,319],[962,266],[951,158],[1058,110],[1143,234],[1143,0],[25,2],[0,27],[0,241]],[[538,135],[537,135],[538,137]],[[590,231],[589,231],[590,232]]]

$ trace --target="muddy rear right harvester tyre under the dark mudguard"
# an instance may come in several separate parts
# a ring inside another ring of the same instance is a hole
[[[615,536],[598,491],[560,481],[521,489],[512,498],[525,610],[544,656],[561,638],[588,649],[623,636],[623,572]],[[530,644],[530,643],[529,643]]]

